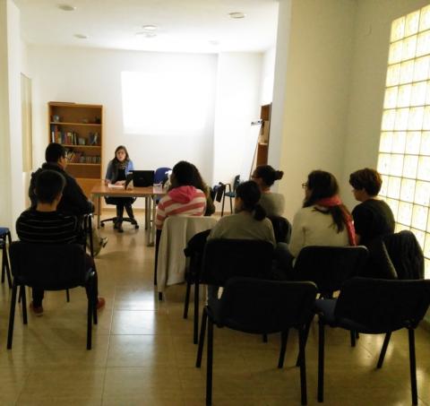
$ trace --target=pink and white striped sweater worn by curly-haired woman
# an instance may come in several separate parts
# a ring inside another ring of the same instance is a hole
[[[202,216],[206,210],[206,196],[194,186],[179,186],[172,189],[159,201],[155,225],[163,228],[168,216],[177,214],[187,216]]]

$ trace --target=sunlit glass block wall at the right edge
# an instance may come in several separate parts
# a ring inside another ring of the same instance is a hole
[[[430,5],[391,24],[378,171],[396,231],[410,229],[430,278]]]

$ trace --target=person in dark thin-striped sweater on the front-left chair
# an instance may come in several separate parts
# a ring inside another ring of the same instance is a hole
[[[64,186],[65,179],[58,171],[47,169],[39,172],[34,189],[36,207],[22,212],[16,220],[16,232],[22,241],[32,244],[77,243],[79,221],[73,215],[57,211],[58,203],[63,197]],[[96,272],[96,265],[90,255],[85,254],[85,262],[87,269]],[[97,290],[97,272],[95,282]],[[32,289],[33,301],[30,308],[36,315],[43,314],[43,297],[43,289]],[[105,299],[99,298],[97,308],[104,305]]]

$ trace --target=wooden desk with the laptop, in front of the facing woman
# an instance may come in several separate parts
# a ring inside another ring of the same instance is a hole
[[[154,196],[156,194],[164,195],[166,190],[162,186],[148,186],[148,187],[132,187],[125,189],[124,187],[109,187],[106,186],[104,181],[99,185],[95,185],[91,189],[91,199],[97,207],[97,228],[100,228],[100,197],[144,197],[145,198],[145,229],[146,229],[146,243],[147,246],[154,245],[155,239],[155,208],[156,204]]]

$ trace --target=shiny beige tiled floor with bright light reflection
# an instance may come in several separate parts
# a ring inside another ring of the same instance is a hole
[[[141,224],[142,224],[142,219]],[[83,289],[47,292],[45,314],[23,326],[17,310],[13,350],[6,350],[9,289],[0,287],[0,405],[203,405],[205,364],[194,365],[193,318],[182,318],[185,286],[168,288],[159,302],[152,285],[154,248],[143,229],[125,225],[97,258],[100,295],[107,306],[85,350]],[[316,326],[306,350],[308,404],[316,402]],[[278,369],[279,337],[215,330],[214,405],[299,405],[297,336],[288,341]],[[409,352],[406,331],[394,333],[383,369],[375,363],[383,336],[364,336],[349,346],[348,333],[328,330],[326,405],[408,405]],[[420,404],[430,405],[430,333],[417,331]]]

